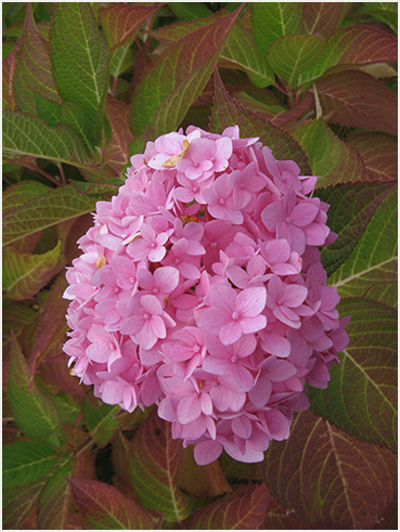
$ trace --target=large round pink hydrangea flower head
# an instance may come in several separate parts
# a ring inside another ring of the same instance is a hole
[[[165,134],[131,165],[67,271],[65,352],[105,403],[156,403],[198,464],[260,462],[348,343],[317,178],[237,126]]]

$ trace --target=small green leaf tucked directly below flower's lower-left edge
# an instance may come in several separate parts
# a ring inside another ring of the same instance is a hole
[[[101,406],[95,407],[87,400],[82,402],[83,423],[100,447],[104,447],[114,433],[127,421],[127,413],[116,417],[120,412],[118,405],[101,404]]]

